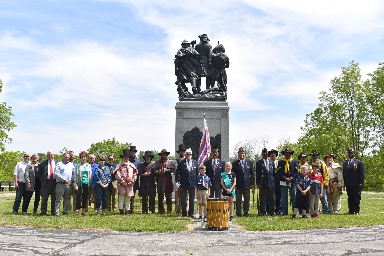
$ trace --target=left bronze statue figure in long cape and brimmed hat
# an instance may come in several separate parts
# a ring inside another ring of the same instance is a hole
[[[188,92],[185,83],[192,85],[193,93],[200,92],[196,88],[196,81],[199,79],[197,61],[200,55],[193,47],[190,47],[190,44],[187,39],[183,40],[180,50],[175,55],[175,75],[177,76],[177,83],[181,86],[178,88],[179,96]]]

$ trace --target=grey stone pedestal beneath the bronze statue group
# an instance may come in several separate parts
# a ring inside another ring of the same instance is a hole
[[[211,148],[217,147],[218,158],[229,161],[228,102],[179,101],[175,109],[175,151],[179,150],[179,144],[185,144],[186,148],[192,148],[192,158],[198,160],[205,113]]]

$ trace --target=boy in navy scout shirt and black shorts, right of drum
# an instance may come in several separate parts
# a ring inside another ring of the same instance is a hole
[[[308,208],[308,201],[310,193],[307,193],[311,189],[311,179],[307,177],[308,167],[306,165],[300,166],[300,175],[296,178],[295,185],[297,187],[296,203],[293,209],[292,219],[296,219],[296,213],[298,208],[301,208],[303,216],[301,218],[308,219],[305,215],[306,208]],[[299,191],[301,193],[299,193]]]

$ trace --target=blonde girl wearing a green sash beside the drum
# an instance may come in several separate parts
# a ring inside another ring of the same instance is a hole
[[[230,217],[229,220],[232,221],[233,218],[233,199],[235,198],[235,186],[236,186],[236,175],[232,171],[232,163],[225,163],[225,173],[221,174],[221,185],[223,187],[223,196],[225,198],[229,197],[229,211]]]

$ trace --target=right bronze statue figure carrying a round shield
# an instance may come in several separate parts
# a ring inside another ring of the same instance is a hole
[[[225,68],[229,67],[229,58],[228,55],[225,54],[225,48],[222,44],[220,44],[220,47],[217,45],[214,48],[212,62],[214,68],[219,72],[218,78],[216,79],[218,87],[224,93],[225,98],[227,98],[227,71],[225,71]],[[215,80],[211,82],[211,87],[213,87]]]

